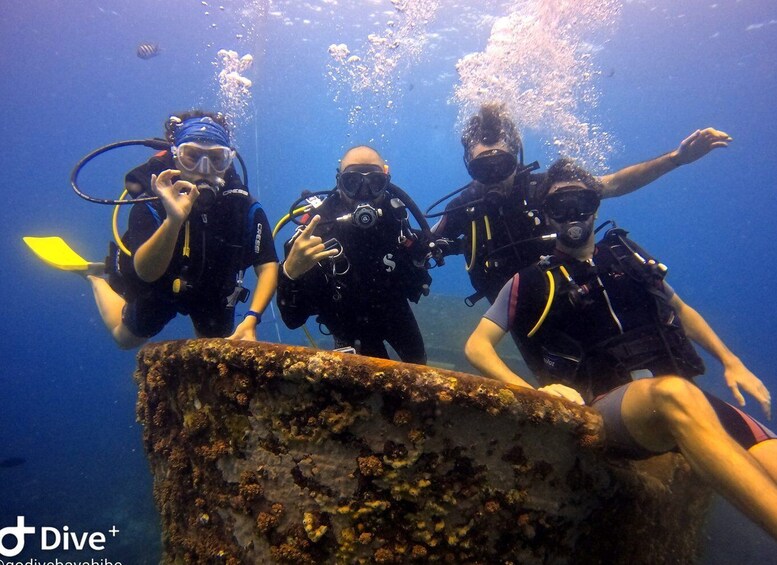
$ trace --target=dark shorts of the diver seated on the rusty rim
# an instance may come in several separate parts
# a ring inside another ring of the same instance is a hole
[[[604,418],[604,430],[608,447],[635,458],[651,457],[656,455],[656,453],[645,449],[637,443],[623,423],[621,404],[623,402],[623,395],[626,394],[626,389],[630,384],[619,386],[607,394],[598,397],[593,401],[591,407],[595,408]],[[726,432],[744,449],[750,449],[762,441],[777,439],[777,434],[752,416],[742,412],[736,406],[732,406],[728,402],[707,392],[704,392],[704,396],[707,397],[707,401],[712,405],[718,420],[720,420]]]

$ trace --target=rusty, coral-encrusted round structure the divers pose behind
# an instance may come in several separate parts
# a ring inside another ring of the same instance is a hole
[[[688,563],[709,492],[678,454],[604,453],[600,416],[431,367],[157,343],[138,419],[165,563]]]

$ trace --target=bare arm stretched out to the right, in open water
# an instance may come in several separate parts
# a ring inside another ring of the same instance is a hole
[[[633,192],[680,165],[687,165],[701,159],[713,149],[728,147],[731,141],[733,138],[730,135],[715,128],[696,130],[674,151],[600,177],[599,180],[604,184],[602,196],[611,198]]]

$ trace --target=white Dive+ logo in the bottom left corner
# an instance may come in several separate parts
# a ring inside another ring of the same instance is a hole
[[[24,516],[16,517],[15,526],[6,526],[0,529],[0,555],[3,557],[15,557],[24,551],[25,537],[35,535],[36,528],[24,524]],[[112,537],[119,533],[116,526],[108,530]],[[6,542],[7,538],[13,538],[13,542]],[[62,529],[51,526],[40,528],[40,547],[42,551],[53,549],[102,551],[105,549],[106,536],[103,532],[72,532],[68,526]],[[13,543],[13,545],[11,545]]]

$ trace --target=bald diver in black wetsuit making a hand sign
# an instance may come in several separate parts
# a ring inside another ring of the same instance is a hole
[[[296,208],[306,197],[308,204]],[[421,230],[411,228],[408,210]],[[340,161],[336,188],[323,200],[303,194],[289,217],[300,212],[304,216],[285,244],[278,281],[286,325],[298,328],[317,316],[337,348],[388,359],[385,341],[402,361],[426,363],[408,300],[418,302],[429,293],[427,270],[436,249],[423,215],[391,183],[378,152],[367,146],[349,149]]]

